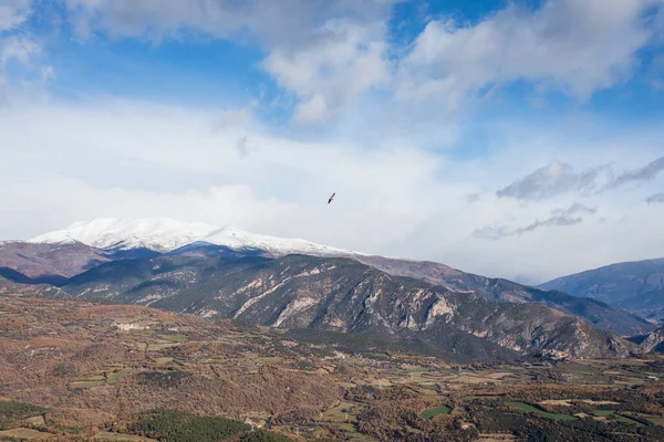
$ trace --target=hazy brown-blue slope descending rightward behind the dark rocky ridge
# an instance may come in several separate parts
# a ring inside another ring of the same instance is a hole
[[[647,320],[629,312],[595,299],[575,297],[559,291],[547,291],[502,278],[464,273],[447,265],[427,261],[394,260],[381,256],[356,256],[355,259],[392,275],[419,278],[455,292],[474,292],[489,301],[544,304],[581,317],[595,327],[623,336],[647,333],[655,328]]]

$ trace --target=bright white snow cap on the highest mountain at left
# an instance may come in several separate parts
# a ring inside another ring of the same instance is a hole
[[[135,220],[97,219],[76,222],[64,230],[44,233],[28,242],[81,242],[97,249],[129,250],[145,248],[169,252],[194,242],[224,245],[229,249],[260,249],[274,255],[302,253],[311,255],[362,255],[299,239],[282,239],[243,232],[232,227],[189,223],[164,218]]]

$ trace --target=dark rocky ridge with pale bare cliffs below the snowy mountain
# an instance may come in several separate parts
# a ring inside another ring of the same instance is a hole
[[[169,255],[106,263],[62,288],[280,328],[388,336],[477,359],[542,350],[614,357],[637,348],[541,304],[495,303],[352,259]]]

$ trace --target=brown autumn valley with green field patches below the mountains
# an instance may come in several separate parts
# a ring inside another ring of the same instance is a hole
[[[657,354],[449,364],[139,306],[2,296],[0,357],[6,439],[174,440],[167,415],[228,431],[215,440],[664,440]],[[242,439],[252,433],[262,439]]]

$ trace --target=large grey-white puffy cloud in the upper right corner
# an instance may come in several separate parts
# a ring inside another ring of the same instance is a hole
[[[444,97],[525,80],[580,98],[627,78],[653,31],[641,14],[658,0],[550,0],[531,12],[510,4],[474,25],[430,21],[401,63],[403,98]]]

